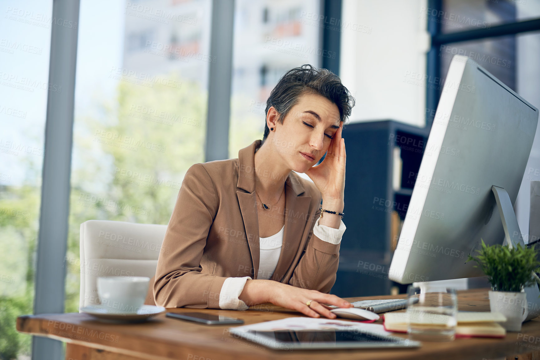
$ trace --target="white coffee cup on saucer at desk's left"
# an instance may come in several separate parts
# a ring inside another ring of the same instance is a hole
[[[150,277],[106,276],[98,277],[98,295],[107,311],[118,314],[136,314],[144,304]]]

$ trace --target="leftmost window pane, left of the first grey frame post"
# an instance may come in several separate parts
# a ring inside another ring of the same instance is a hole
[[[31,352],[15,320],[33,308],[52,1],[0,11],[0,358],[11,359]]]

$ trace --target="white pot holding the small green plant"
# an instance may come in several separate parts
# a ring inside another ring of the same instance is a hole
[[[489,307],[492,313],[501,313],[507,318],[501,325],[508,331],[520,331],[529,313],[527,294],[514,291],[489,291]]]

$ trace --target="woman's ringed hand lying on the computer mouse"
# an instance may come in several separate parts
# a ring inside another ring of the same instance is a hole
[[[330,313],[329,305],[336,305],[339,308],[353,307],[348,301],[342,298],[321,293],[317,290],[308,290],[297,288],[291,285],[280,283],[273,280],[248,280],[244,286],[244,290],[238,297],[248,306],[253,306],[260,303],[273,303],[287,309],[300,311],[300,313],[311,316],[327,318],[335,318],[333,313]],[[311,300],[311,304],[307,302]]]

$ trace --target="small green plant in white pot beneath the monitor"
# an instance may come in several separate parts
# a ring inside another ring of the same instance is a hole
[[[534,248],[517,244],[509,248],[500,244],[487,246],[482,240],[482,248],[476,250],[478,256],[469,255],[491,283],[489,306],[492,313],[502,313],[507,317],[503,325],[509,331],[521,330],[521,323],[527,317],[527,298],[523,289],[539,282],[536,273],[540,262]]]

